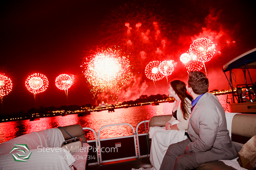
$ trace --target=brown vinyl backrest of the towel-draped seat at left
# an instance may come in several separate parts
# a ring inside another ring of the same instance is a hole
[[[84,131],[83,128],[80,124],[73,124],[73,125],[69,125],[69,126],[63,126],[63,128],[61,127],[57,127],[61,133],[63,134],[63,137],[65,139],[65,141],[67,141],[68,139],[71,139],[72,137],[70,137],[64,130],[63,128],[73,137],[76,138],[81,138],[83,142],[87,143],[86,137],[84,135]]]

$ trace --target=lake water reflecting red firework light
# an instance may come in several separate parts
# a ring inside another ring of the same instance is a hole
[[[231,99],[229,94],[229,100]],[[229,112],[226,103],[227,95],[217,96],[222,104],[225,112]],[[0,123],[0,143],[8,141],[12,138],[24,135],[33,131],[45,130],[49,128],[67,126],[71,124],[80,124],[82,127],[90,127],[96,132],[107,124],[129,123],[136,130],[139,122],[149,120],[152,116],[168,115],[172,112],[173,103],[160,103],[158,106],[138,106],[129,108],[115,109],[115,112],[108,112],[107,110],[101,112],[91,112],[86,116],[78,117],[77,114],[67,116],[55,116],[48,118],[40,118],[40,120],[18,120],[13,122]],[[144,123],[142,124],[144,125]],[[144,132],[145,127],[140,126],[138,132]],[[93,140],[94,135],[92,131],[85,131],[87,140]],[[124,135],[131,135],[132,129],[127,125],[106,127],[101,131],[101,138],[119,137]]]

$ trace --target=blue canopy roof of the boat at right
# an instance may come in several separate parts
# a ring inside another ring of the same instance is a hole
[[[222,70],[227,72],[233,68],[246,68],[245,63],[248,68],[256,68],[256,48],[231,60],[223,66]]]

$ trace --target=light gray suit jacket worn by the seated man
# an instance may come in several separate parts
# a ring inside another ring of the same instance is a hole
[[[196,103],[189,118],[191,138],[185,153],[195,152],[199,165],[220,159],[238,157],[241,146],[231,142],[225,111],[216,96],[204,94]]]

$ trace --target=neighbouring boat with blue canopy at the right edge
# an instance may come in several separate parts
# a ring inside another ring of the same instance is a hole
[[[233,69],[242,70],[244,72],[244,80],[245,84],[240,84],[238,82],[237,86],[233,86],[233,82],[231,79],[231,71]],[[256,84],[251,78],[249,73],[249,69],[252,72],[255,72],[256,69],[256,48],[234,58],[227,64],[225,64],[222,68],[229,85],[232,90],[232,98],[231,103],[229,103],[229,112],[231,113],[246,113],[246,114],[255,114],[256,113]],[[246,81],[246,71],[251,79],[251,84],[248,84]],[[229,72],[230,78],[227,77],[226,72]],[[218,91],[219,92],[219,91]],[[235,100],[236,99],[236,100]],[[227,101],[227,100],[226,100]],[[237,102],[237,103],[236,103]]]

